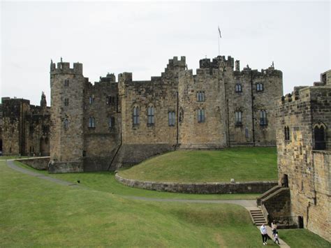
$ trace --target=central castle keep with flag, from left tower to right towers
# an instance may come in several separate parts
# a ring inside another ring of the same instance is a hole
[[[82,64],[50,65],[51,172],[115,170],[177,149],[275,145],[282,73],[240,71],[232,57],[169,60],[149,81],[109,74],[92,85]]]

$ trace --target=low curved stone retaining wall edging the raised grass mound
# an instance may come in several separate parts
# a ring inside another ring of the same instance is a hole
[[[115,179],[129,187],[149,189],[156,191],[168,191],[188,194],[245,194],[263,193],[271,189],[277,182],[201,182],[201,183],[180,183],[180,182],[149,182],[133,179],[126,179],[116,173]]]

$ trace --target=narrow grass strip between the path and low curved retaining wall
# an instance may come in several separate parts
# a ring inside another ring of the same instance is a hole
[[[98,172],[98,173],[66,173],[66,174],[48,174],[45,170],[35,170],[30,166],[26,166],[23,163],[15,161],[17,166],[27,168],[36,173],[43,173],[50,177],[55,177],[68,182],[77,184],[77,180],[80,180],[80,185],[95,189],[98,191],[104,191],[121,196],[142,196],[149,198],[176,198],[176,199],[208,199],[208,200],[233,200],[233,199],[246,199],[255,200],[260,194],[176,194],[170,192],[150,191],[145,189],[135,189],[127,187],[115,180],[114,173],[111,172]]]

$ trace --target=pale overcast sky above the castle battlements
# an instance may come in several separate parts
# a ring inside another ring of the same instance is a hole
[[[330,1],[1,1],[1,97],[50,105],[50,59],[81,62],[90,82],[124,71],[161,75],[168,59],[221,55],[260,71],[274,61],[284,94],[330,66]]]

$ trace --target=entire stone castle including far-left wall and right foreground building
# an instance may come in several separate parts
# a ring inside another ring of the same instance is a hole
[[[185,57],[160,77],[108,73],[92,85],[82,64],[50,65],[51,108],[2,99],[3,154],[50,154],[50,173],[115,170],[173,149],[277,145],[279,185],[258,203],[331,240],[331,70],[282,96],[282,73],[240,70],[232,57]],[[2,122],[1,122],[2,121]],[[2,126],[1,126],[2,125]]]

